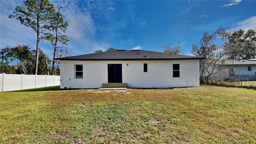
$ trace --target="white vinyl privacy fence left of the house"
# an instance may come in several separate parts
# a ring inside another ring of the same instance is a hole
[[[60,85],[60,76],[0,74],[1,91],[34,89],[54,85]]]

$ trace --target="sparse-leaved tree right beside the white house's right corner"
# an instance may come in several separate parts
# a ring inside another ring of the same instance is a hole
[[[223,44],[226,41],[225,28],[217,29],[213,34],[204,33],[198,44],[193,45],[192,53],[198,57],[206,57],[200,61],[200,77],[203,81],[209,81],[211,76],[220,71],[218,65],[223,63],[225,51]]]

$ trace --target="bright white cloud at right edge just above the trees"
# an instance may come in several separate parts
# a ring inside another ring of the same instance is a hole
[[[235,30],[239,30],[239,29],[243,29],[243,30],[254,29],[254,30],[256,30],[256,15],[254,15],[253,17],[251,17],[249,19],[245,19],[243,21],[237,22],[235,27],[231,28],[230,30],[235,31]]]

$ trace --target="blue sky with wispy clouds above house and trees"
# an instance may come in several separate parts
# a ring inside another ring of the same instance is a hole
[[[180,43],[183,54],[205,31],[256,29],[256,1],[50,1],[65,6],[68,49],[73,55],[95,50],[142,49],[162,52],[163,45]],[[21,1],[0,1],[0,45],[36,47],[36,34],[8,18]],[[40,43],[52,57],[50,42]]]

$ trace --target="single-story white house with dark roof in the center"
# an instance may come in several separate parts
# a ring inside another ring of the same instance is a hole
[[[56,60],[60,60],[60,78],[65,87],[92,89],[104,83],[126,83],[127,87],[137,88],[199,86],[200,59],[204,58],[117,50]]]

